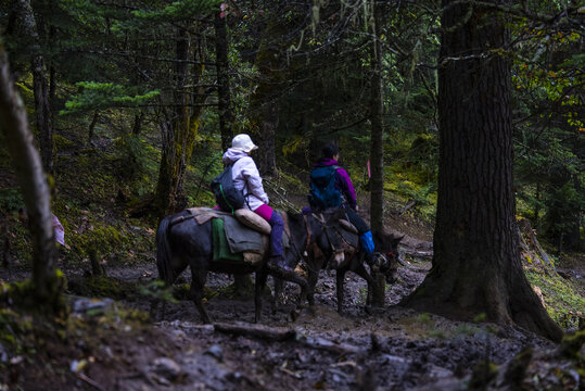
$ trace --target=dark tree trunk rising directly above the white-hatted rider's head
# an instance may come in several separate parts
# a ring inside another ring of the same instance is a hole
[[[233,113],[230,110],[228,36],[226,33],[226,18],[215,13],[215,52],[217,63],[217,97],[219,112],[219,131],[221,133],[221,149],[226,151],[231,147],[233,138]]]

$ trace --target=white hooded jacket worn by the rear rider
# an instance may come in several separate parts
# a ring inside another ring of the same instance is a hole
[[[245,209],[252,211],[258,209],[262,204],[269,202],[268,194],[262,186],[260,174],[254,160],[243,151],[229,148],[224,153],[224,164],[232,164],[231,177],[236,189],[242,191],[247,202]]]

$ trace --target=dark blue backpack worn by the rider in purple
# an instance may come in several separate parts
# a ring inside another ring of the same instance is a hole
[[[335,188],[339,166],[317,167],[310,172],[308,203],[313,209],[326,210],[341,205],[341,192]]]

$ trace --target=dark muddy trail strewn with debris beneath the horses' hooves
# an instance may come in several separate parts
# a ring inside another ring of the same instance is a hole
[[[416,245],[424,251],[427,244]],[[450,321],[397,306],[430,267],[428,260],[410,261],[399,267],[398,281],[389,287],[384,308],[367,312],[366,282],[348,273],[345,313],[338,314],[334,272],[321,272],[314,313],[295,311],[300,289],[288,283],[276,312],[267,290],[259,325],[252,324],[253,298],[234,298],[231,277],[212,273],[205,305],[214,325],[200,321],[187,292],[183,289],[181,298],[179,289],[175,295],[181,300],[166,304],[164,320],[140,332],[124,329],[122,336],[103,340],[91,353],[91,365],[68,389],[458,390],[478,381],[481,363],[506,367],[526,346],[534,346],[548,363],[555,345],[536,336],[495,325]],[[155,279],[156,270],[150,264],[112,268],[109,276],[120,282],[148,283]],[[179,287],[189,282],[188,276],[183,272]],[[270,279],[268,285],[271,287]],[[151,301],[143,298],[127,298],[122,303],[151,310]],[[115,303],[105,299],[90,302],[89,307]],[[87,314],[87,308],[79,307]],[[573,389],[582,382],[578,375],[549,375],[551,368],[571,374],[562,369],[570,368],[567,363],[534,365],[533,370],[546,376],[548,383]],[[487,383],[492,375],[485,376],[480,382]]]

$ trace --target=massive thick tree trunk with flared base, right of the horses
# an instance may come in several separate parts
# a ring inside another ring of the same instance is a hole
[[[494,4],[501,1],[492,0]],[[558,341],[522,269],[512,178],[507,20],[443,1],[438,200],[431,272],[404,303],[420,311],[516,324]]]

